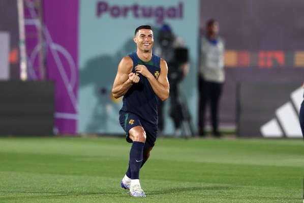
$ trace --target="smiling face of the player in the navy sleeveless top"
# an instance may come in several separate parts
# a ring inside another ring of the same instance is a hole
[[[149,29],[141,29],[136,33],[133,40],[137,44],[137,49],[150,52],[154,43],[153,32]]]

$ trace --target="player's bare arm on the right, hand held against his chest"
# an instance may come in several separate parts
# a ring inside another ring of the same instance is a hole
[[[150,82],[154,93],[162,100],[165,101],[169,97],[169,81],[168,81],[168,66],[165,60],[161,59],[161,74],[156,79],[145,66],[137,65],[135,70],[137,73],[145,76]]]

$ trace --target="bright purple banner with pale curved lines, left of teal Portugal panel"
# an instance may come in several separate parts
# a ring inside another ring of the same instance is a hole
[[[75,0],[43,1],[47,79],[55,80],[55,130],[76,133],[78,6]]]

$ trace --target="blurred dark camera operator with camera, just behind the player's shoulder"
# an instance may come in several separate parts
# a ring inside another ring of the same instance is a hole
[[[191,135],[190,114],[183,93],[179,84],[188,75],[188,49],[183,39],[177,37],[169,24],[163,24],[160,28],[157,43],[154,45],[154,54],[166,60],[168,65],[168,80],[170,84],[170,117],[174,122],[175,136]],[[163,132],[164,121],[164,102],[159,101],[159,131]],[[184,123],[185,122],[185,123]]]

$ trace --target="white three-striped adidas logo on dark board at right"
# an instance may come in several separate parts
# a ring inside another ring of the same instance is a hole
[[[263,137],[300,138],[302,131],[299,124],[299,112],[303,101],[303,88],[290,94],[290,101],[276,109],[276,117],[261,126]]]

